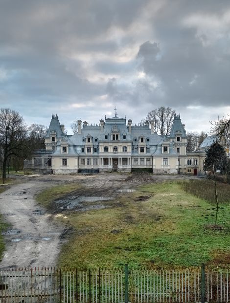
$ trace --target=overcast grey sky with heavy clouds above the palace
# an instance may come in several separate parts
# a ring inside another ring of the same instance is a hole
[[[68,134],[161,106],[187,131],[230,114],[229,0],[0,0],[0,107]]]

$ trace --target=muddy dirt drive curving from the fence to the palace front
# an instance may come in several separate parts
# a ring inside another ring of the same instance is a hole
[[[78,182],[83,190],[77,196],[113,198],[116,193],[135,190],[139,184],[166,180],[192,179],[184,175],[151,175],[148,173],[100,173],[93,175],[36,175],[20,176],[0,194],[0,212],[11,227],[4,232],[6,250],[1,268],[24,266],[54,266],[62,243],[67,241],[68,226],[62,226],[54,216],[69,205],[66,195],[57,207],[48,212],[39,206],[35,196],[42,190],[57,185]],[[80,211],[95,209],[98,202],[77,205]]]

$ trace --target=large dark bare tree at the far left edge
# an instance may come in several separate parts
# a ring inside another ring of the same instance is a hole
[[[2,164],[2,183],[6,178],[7,160],[11,155],[18,156],[23,150],[26,127],[23,117],[9,108],[0,109],[0,161]]]

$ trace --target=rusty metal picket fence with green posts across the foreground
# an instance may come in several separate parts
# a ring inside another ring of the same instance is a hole
[[[0,303],[230,302],[228,268],[0,270]]]

